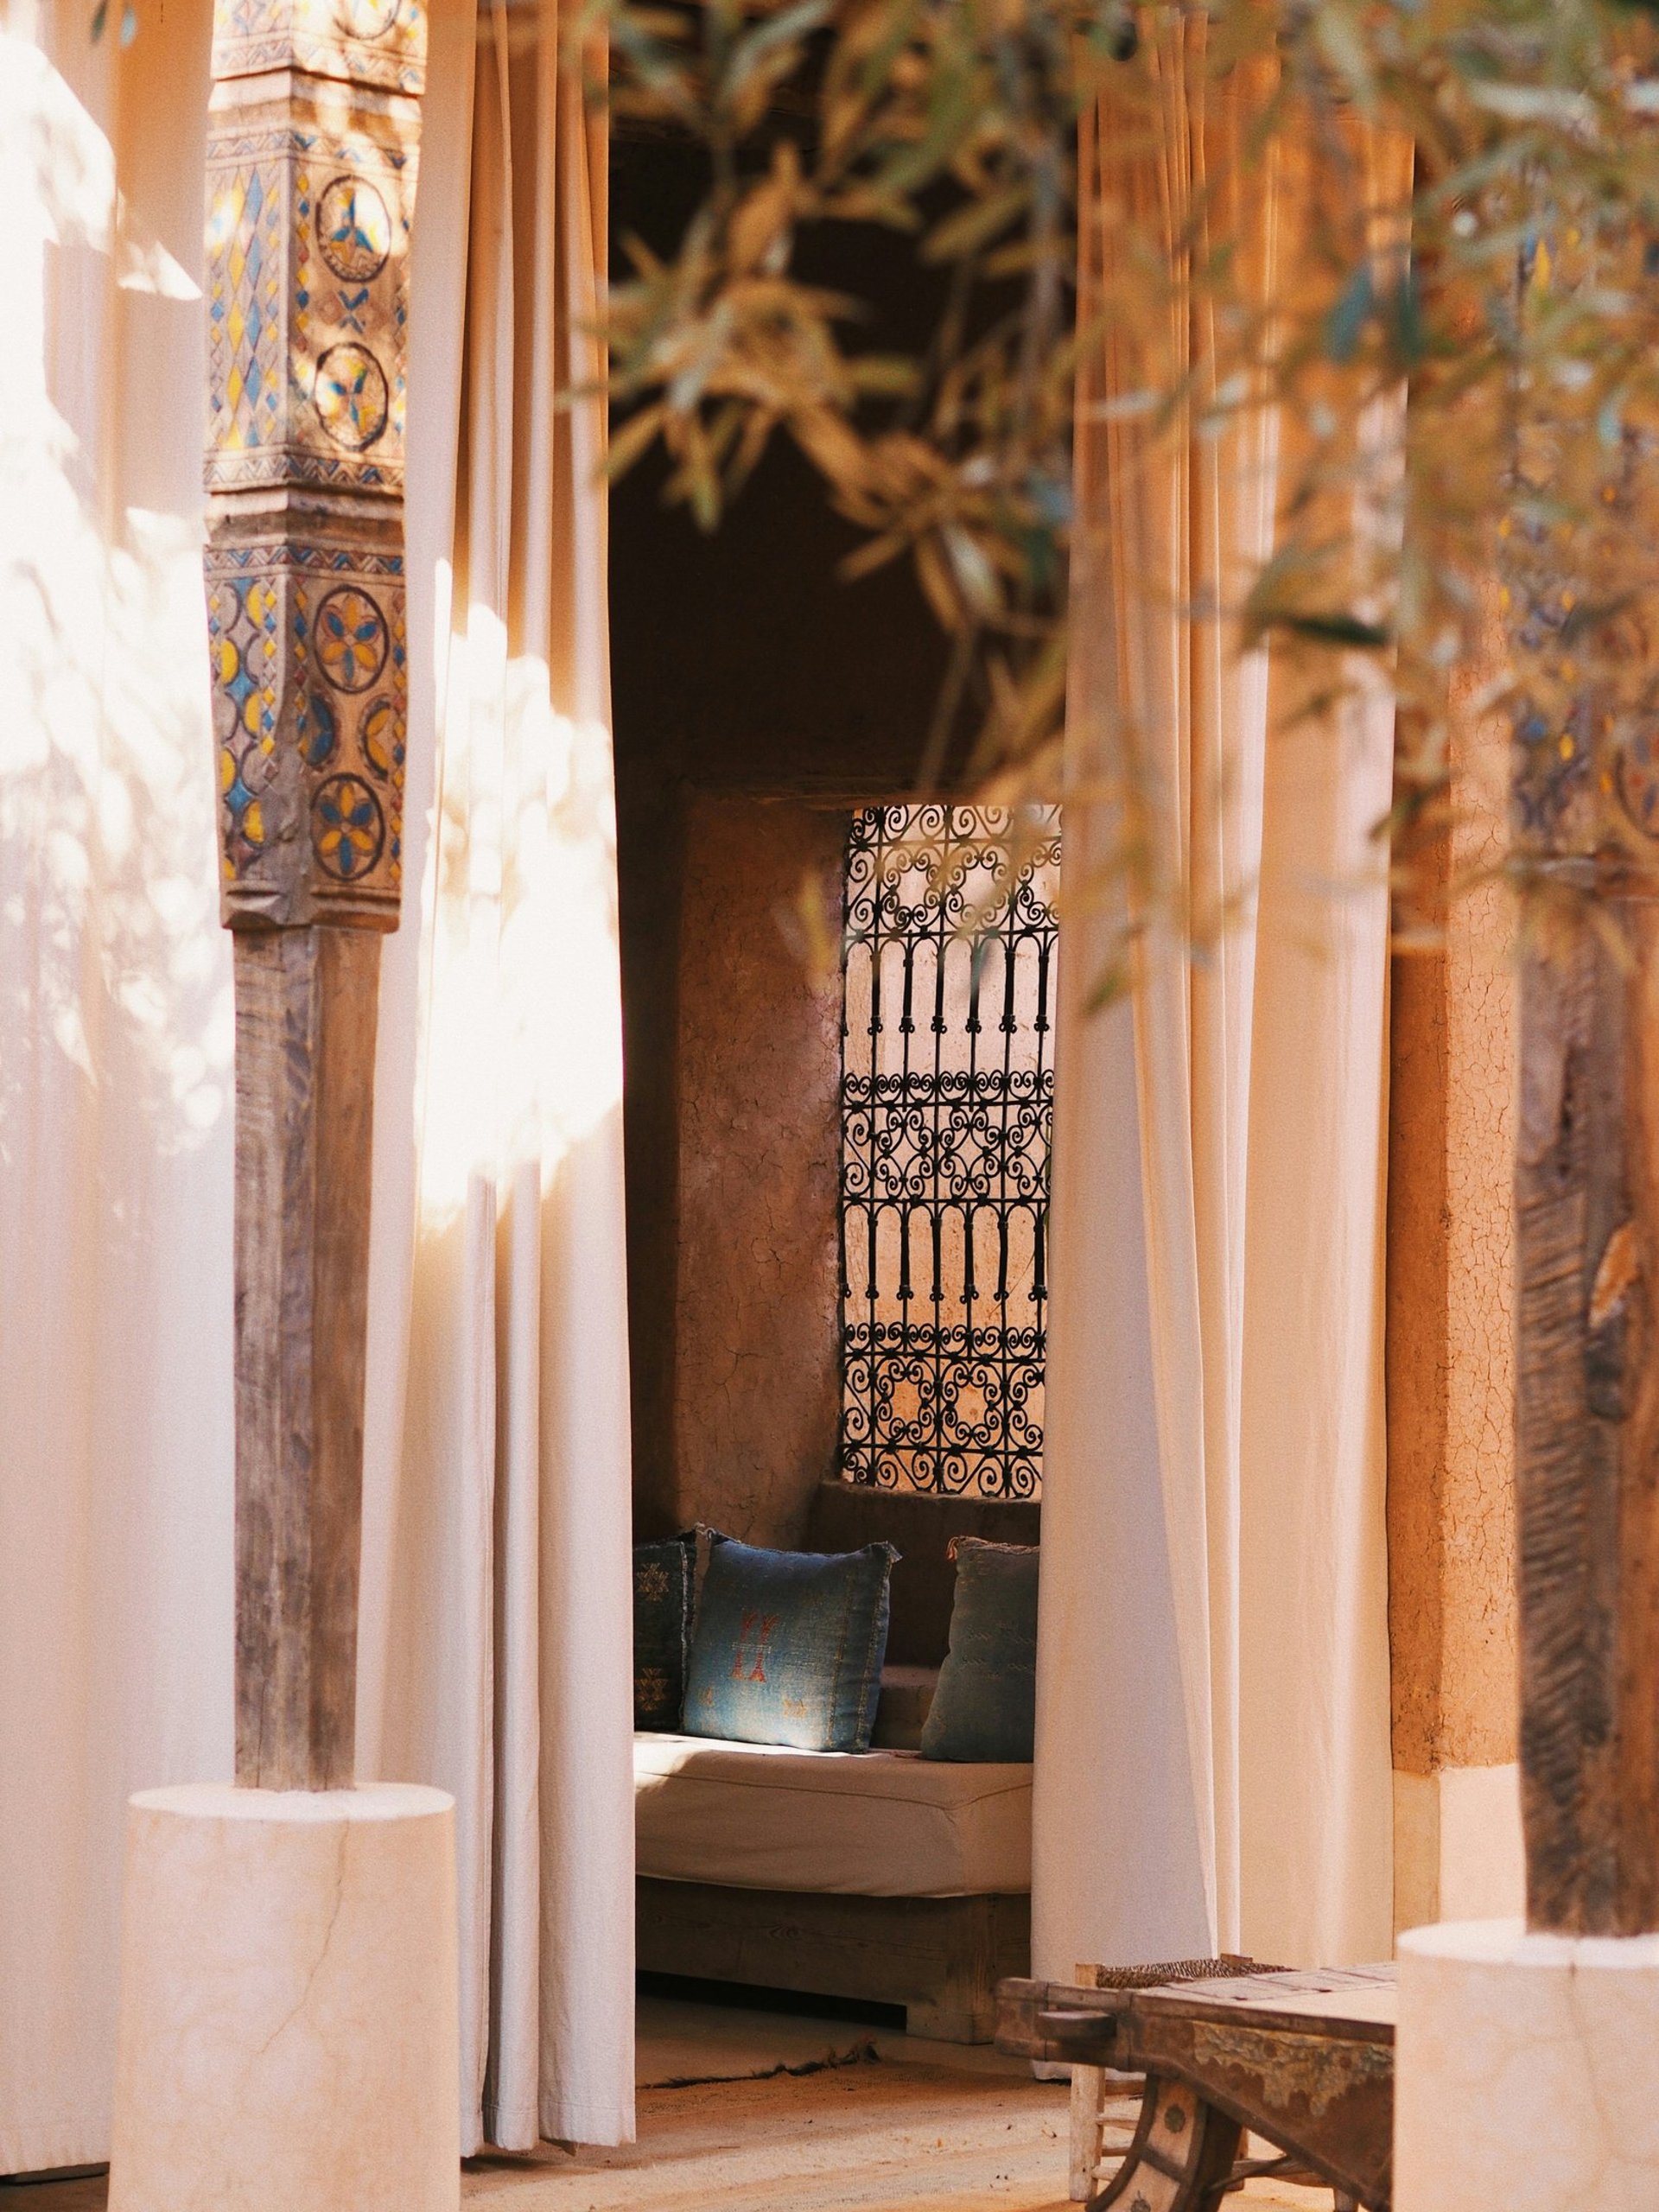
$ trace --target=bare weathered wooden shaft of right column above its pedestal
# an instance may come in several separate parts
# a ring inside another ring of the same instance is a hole
[[[1659,907],[1522,958],[1517,1520],[1533,1927],[1659,1929]]]

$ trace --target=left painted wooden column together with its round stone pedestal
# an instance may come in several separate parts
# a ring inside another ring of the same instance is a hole
[[[111,2212],[460,2203],[456,1807],[352,1787],[422,55],[420,0],[215,0],[204,566],[237,975],[241,1787],[128,1803]]]

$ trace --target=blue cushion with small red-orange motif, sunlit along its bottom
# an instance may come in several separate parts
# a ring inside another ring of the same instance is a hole
[[[867,1752],[887,1650],[891,1544],[759,1551],[714,1535],[697,1601],[686,1732]]]

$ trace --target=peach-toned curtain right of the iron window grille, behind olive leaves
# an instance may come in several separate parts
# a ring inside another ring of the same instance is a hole
[[[1409,148],[1250,139],[1263,77],[1148,33],[1152,128],[1084,131],[1079,562],[1055,1051],[1033,1947],[1040,1973],[1248,1949],[1391,1949],[1383,1440],[1391,699],[1243,653],[1301,425],[1203,425],[1197,292],[1152,341],[1102,307],[1128,237],[1179,272],[1239,239],[1245,296],[1294,283],[1318,195],[1398,204]],[[1110,407],[1188,378],[1175,431]],[[1347,522],[1389,529],[1402,400],[1356,427]],[[1133,914],[1146,838],[1172,911]],[[1091,1013],[1137,920],[1133,1002]],[[1183,938],[1203,951],[1190,958]]]

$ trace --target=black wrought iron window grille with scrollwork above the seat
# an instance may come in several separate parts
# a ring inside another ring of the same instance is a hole
[[[869,807],[847,838],[841,1471],[1035,1498],[1060,816]]]

